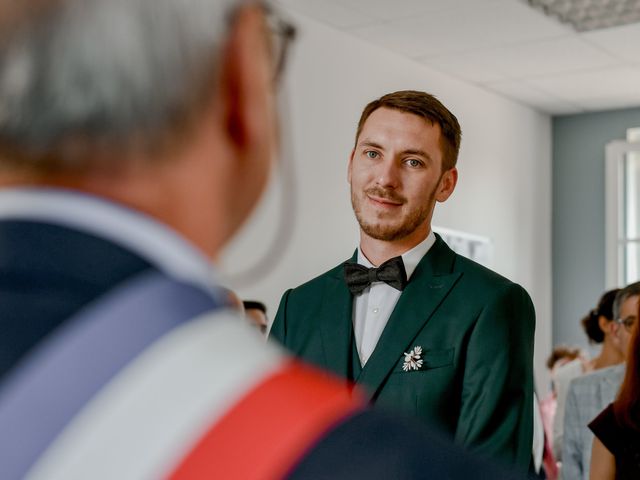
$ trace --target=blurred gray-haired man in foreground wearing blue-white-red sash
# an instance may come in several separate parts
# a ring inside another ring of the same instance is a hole
[[[0,478],[501,478],[265,345],[217,286],[290,27],[25,0],[0,32]]]

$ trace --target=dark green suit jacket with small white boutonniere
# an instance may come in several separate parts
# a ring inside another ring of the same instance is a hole
[[[361,370],[353,368],[352,307],[339,265],[285,292],[271,337],[353,376],[374,403],[416,415],[481,454],[529,466],[535,313],[522,287],[437,236]],[[404,353],[416,346],[424,364],[405,372]]]

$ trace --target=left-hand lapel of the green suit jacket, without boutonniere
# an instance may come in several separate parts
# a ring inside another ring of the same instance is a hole
[[[357,250],[351,261],[357,260]],[[344,280],[342,265],[329,272],[319,312],[326,366],[343,377],[349,374],[353,337],[353,295]]]

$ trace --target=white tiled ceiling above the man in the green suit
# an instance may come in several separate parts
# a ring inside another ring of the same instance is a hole
[[[549,114],[640,106],[640,23],[577,33],[525,0],[278,0]]]

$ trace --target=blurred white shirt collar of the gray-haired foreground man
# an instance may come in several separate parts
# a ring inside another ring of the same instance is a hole
[[[0,191],[0,220],[84,231],[127,248],[173,278],[218,295],[211,260],[170,227],[124,205],[71,190],[11,188]]]

